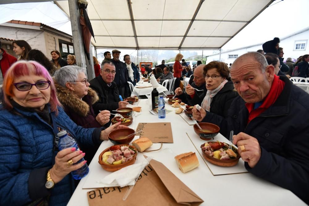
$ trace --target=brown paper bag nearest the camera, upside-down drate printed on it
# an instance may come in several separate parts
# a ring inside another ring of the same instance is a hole
[[[105,187],[87,192],[90,206],[96,205],[199,205],[203,200],[161,162],[151,160],[139,176],[128,198],[128,187]]]

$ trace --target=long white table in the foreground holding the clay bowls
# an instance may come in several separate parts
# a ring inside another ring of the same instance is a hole
[[[194,136],[195,133],[192,125],[190,126],[181,116],[173,112],[168,113],[165,119],[159,119],[158,116],[150,114],[149,109],[151,104],[149,104],[149,100],[147,99],[140,99],[134,105],[142,107],[142,114],[133,117],[133,123],[129,126],[130,128],[136,129],[140,122],[171,122],[174,143],[164,143],[161,150],[146,153],[146,155],[152,156],[155,160],[162,162],[183,183],[199,195],[204,200],[201,205],[306,205],[291,191],[260,179],[250,173],[214,176],[205,164],[203,157],[199,155],[197,149],[200,148],[196,149],[186,134],[188,132],[191,136],[190,138],[199,139],[197,135]],[[166,104],[166,108],[168,110],[174,110],[168,104]],[[222,138],[223,136],[218,134],[216,137]],[[195,140],[197,141],[197,139]],[[201,144],[205,142],[200,141]],[[82,187],[89,175],[100,177],[100,172],[103,169],[98,167],[99,154],[111,145],[112,143],[110,141],[102,142],[93,161],[89,165],[89,174],[80,181],[68,205],[88,205],[87,191],[93,189],[82,189]],[[152,146],[154,149],[159,147],[160,143]],[[197,154],[200,166],[188,173],[182,173],[178,169],[174,157],[190,151]]]

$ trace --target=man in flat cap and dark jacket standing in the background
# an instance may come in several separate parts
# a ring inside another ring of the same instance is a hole
[[[122,96],[123,99],[125,99],[129,94],[128,89],[128,79],[129,79],[129,73],[128,69],[125,66],[125,63],[119,60],[120,57],[120,51],[117,49],[112,50],[112,60],[111,62],[114,63],[116,67],[116,74],[114,82],[116,82],[116,85],[118,86],[119,94]],[[127,93],[127,94],[126,94]]]

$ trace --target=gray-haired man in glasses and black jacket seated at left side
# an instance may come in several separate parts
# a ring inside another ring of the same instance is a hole
[[[116,74],[115,65],[111,61],[102,63],[100,75],[92,79],[90,87],[94,89],[99,96],[99,101],[92,105],[96,114],[100,110],[116,110],[121,107],[126,107],[129,104],[127,101],[121,101],[119,98],[119,90],[114,82]]]

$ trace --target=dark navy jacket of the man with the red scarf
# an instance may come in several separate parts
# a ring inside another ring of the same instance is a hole
[[[309,204],[309,95],[287,77],[279,78],[285,86],[278,99],[249,124],[248,109],[241,97],[234,99],[228,117],[207,112],[202,121],[217,124],[226,137],[231,130],[255,137],[261,157],[254,168],[245,162],[246,169]]]

